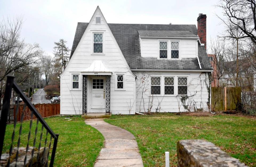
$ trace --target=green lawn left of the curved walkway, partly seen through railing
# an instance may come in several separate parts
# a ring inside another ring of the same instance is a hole
[[[54,160],[54,166],[93,166],[101,148],[103,147],[104,138],[100,132],[93,127],[86,125],[84,119],[80,116],[72,117],[72,121],[67,121],[64,117],[45,118],[45,121],[54,131],[59,134],[57,151]],[[26,147],[27,135],[29,132],[29,121],[22,124],[21,147]],[[17,146],[18,132],[20,123],[15,128],[14,147]],[[36,127],[36,121],[33,121],[30,146],[33,146],[33,139]],[[4,141],[4,150],[10,148],[13,124],[6,127],[6,136]],[[41,135],[41,124],[38,124],[37,147]],[[46,138],[46,131],[43,130],[43,142]],[[50,141],[48,135],[48,141]],[[53,145],[53,141],[52,141]],[[44,143],[42,143],[42,147]]]

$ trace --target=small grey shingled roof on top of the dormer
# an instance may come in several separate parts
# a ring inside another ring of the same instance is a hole
[[[197,37],[190,31],[138,30],[139,36]]]

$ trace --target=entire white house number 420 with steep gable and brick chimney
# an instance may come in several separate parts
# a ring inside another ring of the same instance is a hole
[[[208,110],[213,70],[205,49],[206,15],[197,20],[198,30],[108,24],[97,7],[89,23],[77,24],[60,75],[61,114]]]

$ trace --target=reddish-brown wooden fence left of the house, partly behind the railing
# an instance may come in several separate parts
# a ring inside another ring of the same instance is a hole
[[[24,104],[19,105],[18,114],[17,114],[17,122],[19,122],[21,120],[23,106],[24,106]],[[35,104],[34,106],[43,118],[60,114],[60,103]],[[17,108],[17,105],[14,105],[14,107],[13,107],[13,115],[14,115],[13,117],[14,118],[15,118],[15,114],[16,114],[16,108]],[[36,117],[34,115],[33,119],[35,119],[35,118]],[[29,110],[29,108],[26,107],[24,110],[23,121],[30,120],[30,119],[31,119],[31,110]],[[10,121],[9,123],[13,122],[13,120]]]

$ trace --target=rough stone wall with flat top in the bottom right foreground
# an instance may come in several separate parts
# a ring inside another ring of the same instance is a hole
[[[178,166],[245,167],[219,147],[206,140],[180,140],[177,143]]]

